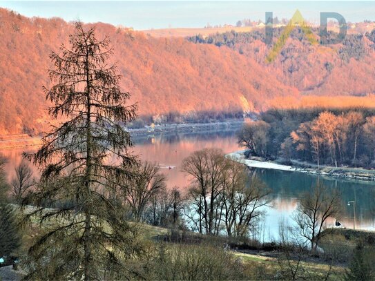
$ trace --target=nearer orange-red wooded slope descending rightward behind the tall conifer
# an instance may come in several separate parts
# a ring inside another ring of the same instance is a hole
[[[298,95],[229,48],[95,26],[98,37],[110,38],[122,89],[139,102],[140,115],[261,110],[273,97]],[[42,86],[48,86],[48,55],[59,52],[72,30],[61,19],[28,19],[0,10],[0,133],[39,133],[46,126]]]

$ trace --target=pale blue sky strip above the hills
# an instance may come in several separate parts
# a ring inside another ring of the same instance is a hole
[[[312,23],[319,22],[320,12],[338,12],[347,22],[375,21],[375,1],[0,1],[0,7],[27,17],[102,21],[136,30],[265,21],[265,12],[290,19],[296,9]]]

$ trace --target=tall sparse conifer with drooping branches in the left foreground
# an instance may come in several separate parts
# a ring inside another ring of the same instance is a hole
[[[129,93],[120,90],[116,66],[108,64],[113,49],[107,37],[99,40],[94,28],[75,23],[69,42],[50,55],[54,85],[45,88],[53,104],[50,115],[64,122],[28,155],[42,174],[37,191],[24,202],[39,207],[30,216],[40,218],[43,233],[30,248],[27,278],[123,279],[130,272],[124,261],[139,248],[113,198],[137,165],[123,127],[137,108],[124,106]]]

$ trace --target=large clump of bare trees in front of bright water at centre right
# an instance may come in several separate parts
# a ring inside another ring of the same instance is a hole
[[[243,164],[224,157],[218,149],[195,151],[184,159],[183,171],[193,177],[185,215],[200,233],[244,236],[261,207],[269,203],[269,190],[251,178]]]

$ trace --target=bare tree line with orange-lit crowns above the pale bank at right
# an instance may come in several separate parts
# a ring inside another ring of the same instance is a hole
[[[244,124],[238,142],[252,155],[316,163],[375,165],[372,110],[270,110]]]

